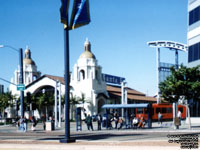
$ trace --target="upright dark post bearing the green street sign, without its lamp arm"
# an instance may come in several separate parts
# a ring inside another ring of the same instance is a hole
[[[22,48],[19,49],[19,64],[20,64],[20,76],[19,76],[19,83],[24,84],[24,77],[23,77],[23,52]],[[20,91],[20,104],[21,104],[21,116],[24,118],[24,91]]]

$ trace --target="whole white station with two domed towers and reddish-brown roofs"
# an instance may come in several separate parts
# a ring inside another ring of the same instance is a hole
[[[102,67],[98,64],[96,56],[91,51],[91,43],[86,39],[84,43],[84,51],[74,64],[73,71],[70,76],[70,96],[76,98],[84,98],[83,104],[77,105],[81,107],[84,114],[96,115],[105,113],[101,107],[104,104],[120,104],[121,103],[121,85],[108,84],[102,73]],[[13,80],[13,79],[12,79]],[[19,83],[19,69],[15,71],[15,84]],[[37,71],[37,66],[31,58],[29,49],[25,50],[24,58],[24,83],[26,85],[25,96],[28,92],[37,95],[42,92],[54,92],[57,89],[58,95],[65,94],[64,78],[44,74]],[[60,85],[57,88],[58,83]],[[10,91],[19,96],[16,86],[10,86]],[[146,96],[144,93],[127,87],[128,103],[156,103],[156,98]],[[53,114],[54,106],[48,108],[48,112]],[[63,107],[63,106],[62,106]],[[62,113],[64,110],[62,109]]]

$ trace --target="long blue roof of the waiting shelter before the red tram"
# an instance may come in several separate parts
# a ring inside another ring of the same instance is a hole
[[[105,104],[103,109],[118,109],[118,108],[147,108],[149,104]]]

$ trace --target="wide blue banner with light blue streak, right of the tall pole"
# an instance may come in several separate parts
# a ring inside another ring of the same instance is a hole
[[[70,28],[75,29],[89,22],[89,0],[74,0]]]

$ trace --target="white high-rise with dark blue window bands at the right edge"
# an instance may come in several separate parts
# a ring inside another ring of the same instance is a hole
[[[200,64],[200,0],[188,0],[188,66]]]

